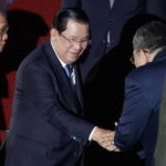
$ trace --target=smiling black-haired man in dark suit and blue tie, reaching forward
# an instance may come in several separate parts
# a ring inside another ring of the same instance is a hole
[[[76,61],[89,43],[89,19],[61,10],[50,39],[21,63],[15,80],[6,166],[74,166],[89,141],[111,131],[83,118]]]

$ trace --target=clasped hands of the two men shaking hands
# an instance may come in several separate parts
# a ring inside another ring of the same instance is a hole
[[[120,148],[114,144],[115,131],[95,127],[91,139],[96,142],[103,148],[110,152],[120,152]]]

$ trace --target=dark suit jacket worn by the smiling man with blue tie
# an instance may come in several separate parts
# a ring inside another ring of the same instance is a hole
[[[73,166],[94,127],[77,100],[50,40],[19,66],[7,141],[6,166]]]

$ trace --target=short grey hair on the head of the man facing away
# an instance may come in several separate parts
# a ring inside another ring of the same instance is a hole
[[[156,49],[166,46],[166,24],[160,21],[152,21],[142,25],[133,38],[135,51],[148,50],[149,53]]]

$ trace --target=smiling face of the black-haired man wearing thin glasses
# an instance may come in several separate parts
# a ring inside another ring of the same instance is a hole
[[[89,24],[69,20],[66,30],[61,34],[55,29],[51,30],[51,40],[60,59],[71,64],[84,52],[89,42]]]

